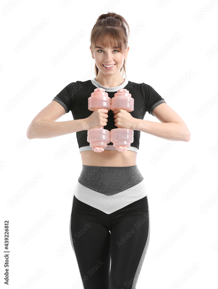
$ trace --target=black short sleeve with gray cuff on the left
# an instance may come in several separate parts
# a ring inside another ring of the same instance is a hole
[[[74,99],[78,94],[79,86],[77,82],[71,82],[63,88],[52,100],[60,103],[65,109],[65,113],[73,110]]]

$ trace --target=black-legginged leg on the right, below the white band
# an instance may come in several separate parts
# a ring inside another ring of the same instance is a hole
[[[115,212],[111,229],[110,289],[135,289],[150,239],[147,196]]]

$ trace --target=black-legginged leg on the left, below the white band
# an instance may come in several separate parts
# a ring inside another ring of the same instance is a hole
[[[109,289],[110,232],[101,214],[74,196],[70,237],[85,289]]]

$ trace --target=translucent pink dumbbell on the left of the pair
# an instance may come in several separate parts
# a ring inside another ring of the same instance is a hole
[[[111,109],[111,98],[103,88],[96,88],[88,98],[88,109],[95,111],[98,108]],[[110,131],[104,127],[88,129],[87,142],[95,152],[100,153],[110,142]]]

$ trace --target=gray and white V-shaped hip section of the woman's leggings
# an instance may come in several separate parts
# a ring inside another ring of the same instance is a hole
[[[106,214],[147,200],[147,188],[138,166],[85,166],[74,191],[75,197]],[[143,199],[144,198],[144,199]],[[146,205],[146,204],[145,204]]]

